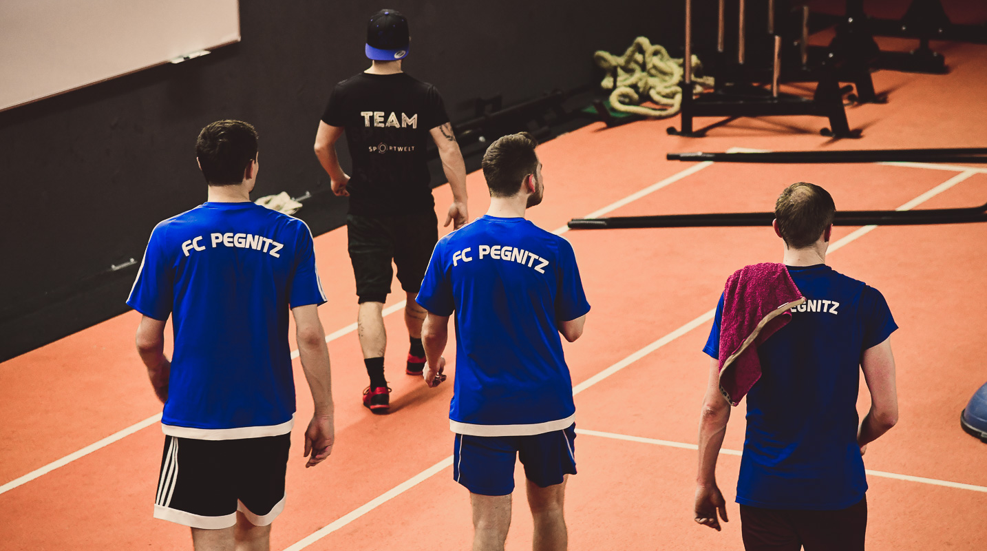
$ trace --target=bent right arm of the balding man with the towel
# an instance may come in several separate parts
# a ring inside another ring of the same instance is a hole
[[[894,383],[894,354],[891,353],[890,338],[864,351],[861,367],[871,391],[871,411],[857,433],[857,444],[863,453],[869,442],[887,433],[898,422],[898,392]]]

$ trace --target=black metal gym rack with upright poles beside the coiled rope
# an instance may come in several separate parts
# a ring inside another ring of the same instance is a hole
[[[681,128],[669,127],[668,133],[684,136],[702,136],[713,126],[720,125],[733,118],[763,117],[763,116],[793,116],[807,115],[829,119],[829,127],[823,128],[823,135],[834,137],[860,137],[859,130],[851,130],[847,122],[843,106],[843,95],[853,90],[853,87],[840,87],[838,71],[841,65],[851,66],[851,61],[860,57],[860,52],[854,55],[842,54],[837,56],[829,51],[818,56],[813,61],[809,58],[807,39],[807,12],[802,9],[797,12],[798,39],[786,39],[784,33],[776,33],[777,7],[774,0],[768,7],[768,33],[751,39],[751,45],[761,45],[760,50],[773,50],[770,63],[758,64],[749,61],[747,56],[747,4],[746,0],[736,0],[737,6],[737,43],[734,51],[727,51],[725,40],[725,11],[726,0],[719,2],[718,33],[717,33],[717,63],[716,86],[712,92],[698,96],[682,95]],[[783,18],[784,19],[784,18]],[[793,28],[786,25],[786,29]],[[779,28],[781,31],[781,28]],[[765,45],[766,44],[766,45]],[[797,54],[792,54],[795,47]],[[769,54],[770,55],[770,54]],[[763,57],[763,56],[758,56]],[[813,64],[814,63],[814,64]],[[850,65],[848,65],[850,63]],[[860,69],[854,76],[858,82],[859,96],[872,99],[873,84],[866,70],[866,63],[860,64]],[[692,90],[692,0],[685,0],[685,56],[684,56],[683,90]],[[853,72],[853,71],[851,71]],[[866,78],[865,78],[866,75]],[[846,78],[846,77],[844,77]],[[779,83],[816,81],[815,93],[812,98],[803,98],[794,94],[779,92]],[[763,88],[761,85],[770,85]],[[693,119],[698,117],[726,118],[711,126],[695,129]]]

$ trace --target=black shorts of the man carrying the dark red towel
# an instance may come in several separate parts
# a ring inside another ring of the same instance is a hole
[[[864,551],[867,496],[839,511],[794,511],[740,506],[747,551]]]

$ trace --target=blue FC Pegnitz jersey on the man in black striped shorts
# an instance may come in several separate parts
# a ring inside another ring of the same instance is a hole
[[[127,304],[172,315],[166,434],[288,433],[288,308],[326,301],[305,222],[253,202],[206,202],[151,232]]]

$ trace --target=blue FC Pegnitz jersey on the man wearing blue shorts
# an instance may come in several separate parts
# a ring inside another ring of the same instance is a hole
[[[418,304],[456,314],[452,431],[561,431],[573,423],[560,321],[589,311],[569,242],[524,218],[482,216],[435,245]]]

